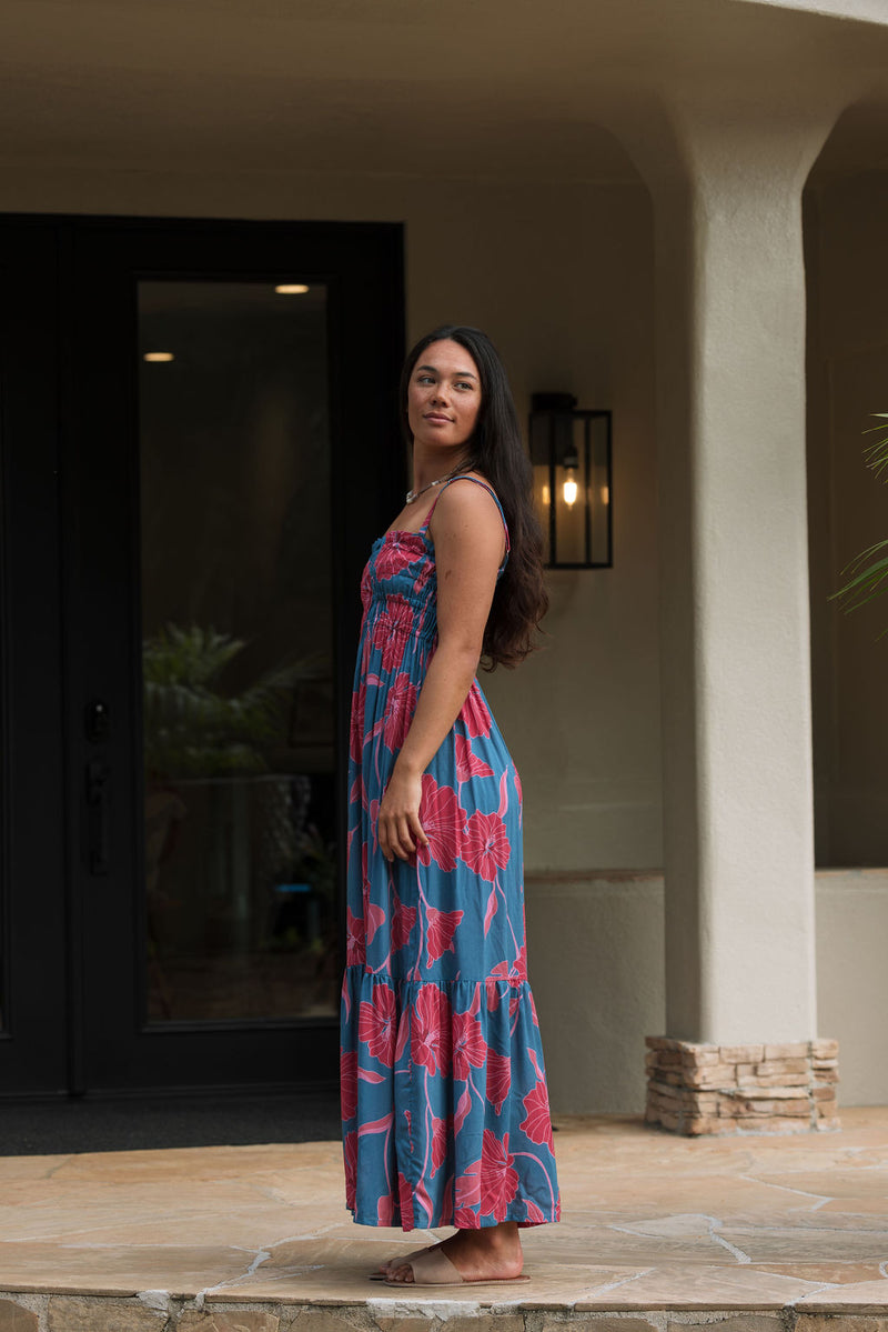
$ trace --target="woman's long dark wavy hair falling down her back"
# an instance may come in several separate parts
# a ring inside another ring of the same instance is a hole
[[[445,324],[419,338],[401,373],[401,425],[407,445],[407,389],[417,361],[431,342],[458,342],[481,376],[481,408],[475,432],[461,460],[462,472],[479,472],[497,492],[509,525],[511,550],[497,583],[487,617],[482,666],[517,666],[534,650],[535,633],[549,609],[543,583],[543,537],[533,507],[533,469],[518,426],[518,413],[502,361],[486,333]],[[487,658],[487,661],[483,661]]]

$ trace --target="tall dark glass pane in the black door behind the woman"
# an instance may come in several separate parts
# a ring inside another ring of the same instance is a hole
[[[148,1020],[333,1015],[326,293],[145,280],[138,338]]]

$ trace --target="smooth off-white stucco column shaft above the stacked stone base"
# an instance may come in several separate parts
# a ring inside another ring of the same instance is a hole
[[[816,1036],[801,188],[832,120],[719,93],[630,144],[658,246],[667,1035],[719,1047]]]

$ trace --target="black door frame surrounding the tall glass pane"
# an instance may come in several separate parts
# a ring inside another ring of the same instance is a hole
[[[338,1075],[335,1019],[141,1023],[141,614],[136,282],[314,280],[328,286],[332,571],[341,916],[349,703],[358,586],[403,485],[397,382],[403,354],[399,224],[5,214],[0,237],[53,236],[57,254],[57,618],[67,793],[64,838],[67,1090],[293,1087]],[[0,244],[3,244],[0,242]],[[8,248],[3,244],[4,250]],[[301,262],[293,262],[294,256]],[[297,278],[297,272],[300,278]],[[49,376],[52,378],[52,376]],[[11,445],[16,448],[16,440]],[[15,496],[12,503],[15,505]],[[104,593],[100,589],[104,586]],[[104,599],[103,599],[104,598]],[[108,737],[84,707],[111,701]],[[111,871],[84,860],[87,765],[112,785]],[[5,843],[4,843],[5,844]],[[9,878],[8,898],[16,896]],[[342,926],[343,928],[343,926]],[[342,932],[342,931],[341,931]],[[136,948],[136,954],[133,954]],[[24,959],[25,967],[28,959]],[[44,1012],[44,1023],[48,1020]],[[11,1040],[24,1028],[12,1023]],[[3,1044],[0,1044],[3,1060]],[[224,1072],[221,1072],[224,1070]],[[1,1064],[0,1064],[1,1078]],[[8,1086],[5,1078],[0,1086]],[[27,1088],[21,1088],[23,1091]],[[43,1088],[41,1088],[43,1090]]]

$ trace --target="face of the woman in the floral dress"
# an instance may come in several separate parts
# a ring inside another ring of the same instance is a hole
[[[430,342],[413,368],[407,420],[417,444],[458,449],[469,442],[481,410],[481,376],[465,348],[445,338]]]

